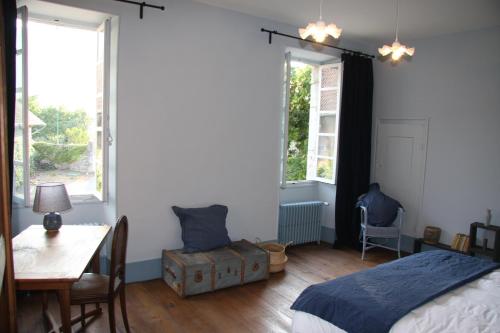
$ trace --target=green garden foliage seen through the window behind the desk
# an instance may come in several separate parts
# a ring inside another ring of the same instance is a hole
[[[30,97],[29,110],[45,123],[32,132],[33,163],[37,169],[54,169],[58,164],[74,163],[81,158],[89,143],[90,119],[84,111],[42,108],[36,97]]]

